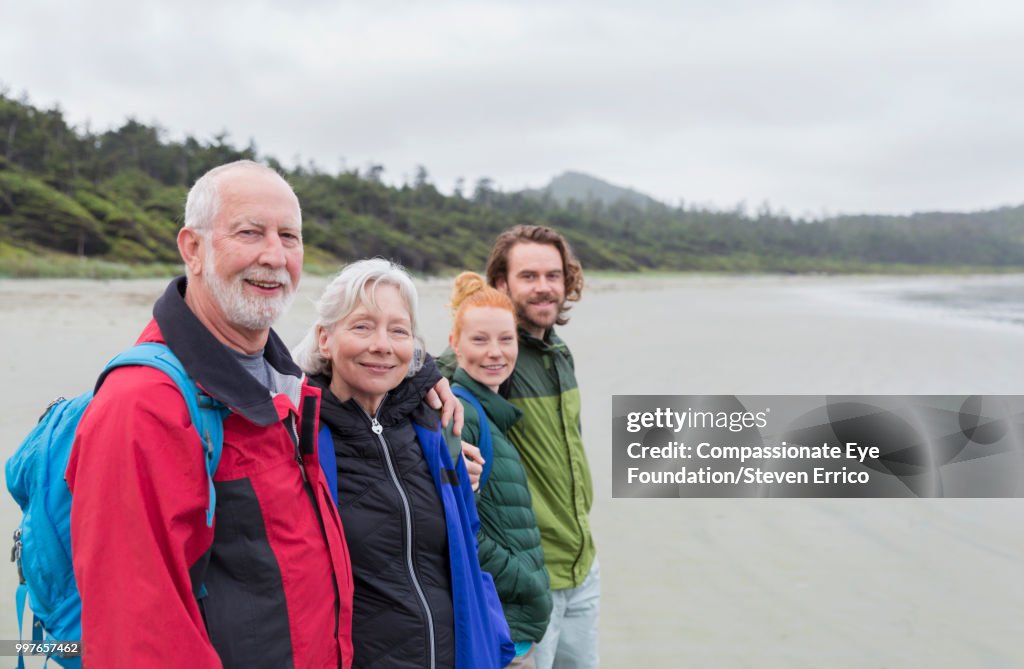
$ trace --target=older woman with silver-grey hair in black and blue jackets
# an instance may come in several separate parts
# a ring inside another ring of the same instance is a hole
[[[504,666],[512,643],[477,558],[466,467],[422,402],[440,375],[424,365],[412,280],[386,260],[354,262],[316,313],[295,360],[323,390],[337,460],[355,586],[352,666]]]

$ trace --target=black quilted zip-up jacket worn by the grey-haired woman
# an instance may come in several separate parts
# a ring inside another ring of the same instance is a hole
[[[338,507],[355,583],[353,668],[455,666],[444,510],[412,423],[436,423],[423,395],[439,378],[428,363],[389,392],[375,416],[379,436],[359,405],[331,392],[329,378],[310,379],[324,390],[321,420],[338,459]]]

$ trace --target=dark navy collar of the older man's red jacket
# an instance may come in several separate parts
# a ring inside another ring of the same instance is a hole
[[[232,412],[264,427],[276,423],[280,419],[271,394],[193,313],[185,304],[186,289],[185,277],[175,279],[153,306],[153,318],[164,342],[178,357],[188,375]],[[273,330],[270,330],[263,357],[278,372],[281,390],[297,395],[302,370],[292,362],[288,348]],[[292,396],[292,400],[298,407],[298,398]]]

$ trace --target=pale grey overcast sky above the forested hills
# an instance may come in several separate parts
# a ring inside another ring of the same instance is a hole
[[[816,216],[1024,203],[1019,0],[0,0],[0,84],[444,192],[573,169]]]

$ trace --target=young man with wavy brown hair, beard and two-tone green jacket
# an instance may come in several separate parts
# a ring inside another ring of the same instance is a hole
[[[501,388],[522,410],[509,437],[529,479],[544,560],[551,576],[551,622],[537,650],[539,669],[598,666],[600,573],[590,531],[593,486],[580,422],[572,353],[555,333],[583,292],[583,269],[565,238],[517,225],[490,251],[487,283],[516,308],[519,357]],[[439,359],[446,372],[454,356]],[[467,452],[471,458],[471,452]]]

